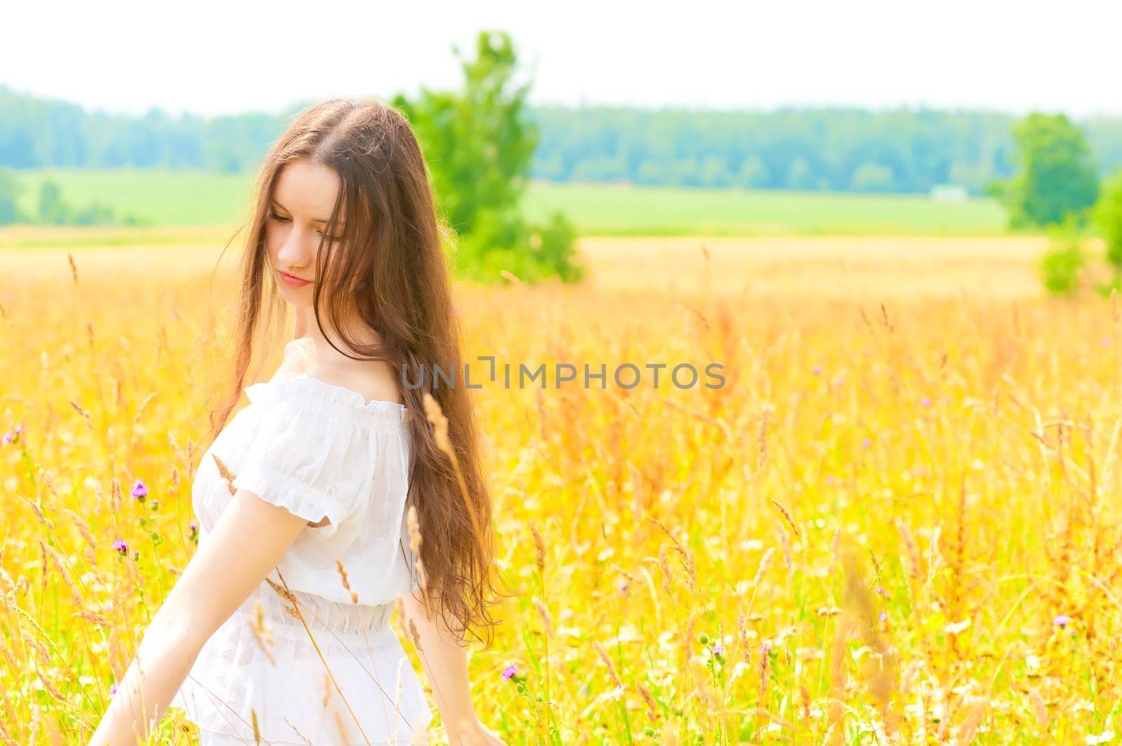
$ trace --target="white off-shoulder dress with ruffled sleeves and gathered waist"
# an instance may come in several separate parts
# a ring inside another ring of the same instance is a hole
[[[410,413],[282,371],[245,391],[250,403],[195,475],[200,543],[229,504],[230,484],[310,522],[327,516],[330,523],[305,528],[269,574],[278,586],[284,577],[307,628],[263,582],[205,643],[172,707],[199,726],[200,746],[255,744],[255,721],[267,746],[407,746],[433,717],[388,624],[397,596],[419,585],[406,514]],[[250,626],[257,602],[274,640],[264,647]]]

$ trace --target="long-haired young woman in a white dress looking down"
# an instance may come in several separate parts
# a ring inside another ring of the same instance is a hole
[[[376,100],[311,106],[256,194],[237,384],[192,491],[199,550],[90,746],[136,744],[168,707],[201,746],[425,744],[397,600],[450,743],[502,744],[469,694],[466,631],[490,632],[498,595],[490,498],[466,388],[432,385],[434,365],[461,366],[459,327],[413,131]],[[283,362],[226,427],[285,305]]]

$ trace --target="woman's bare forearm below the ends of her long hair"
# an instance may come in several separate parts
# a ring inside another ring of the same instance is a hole
[[[425,615],[424,591],[402,596],[406,619],[417,628],[417,655],[436,698],[441,720],[448,729],[449,746],[497,746],[503,742],[476,716],[468,682],[468,647],[461,628],[451,630],[441,615]],[[410,635],[412,640],[412,635]]]

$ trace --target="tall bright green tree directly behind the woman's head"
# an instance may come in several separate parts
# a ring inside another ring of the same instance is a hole
[[[490,281],[504,270],[519,280],[580,279],[573,231],[560,213],[543,226],[519,214],[537,127],[527,119],[530,84],[516,85],[514,46],[504,31],[480,31],[475,59],[453,47],[463,71],[460,91],[422,87],[397,94],[424,150],[444,220],[458,234],[457,272]]]

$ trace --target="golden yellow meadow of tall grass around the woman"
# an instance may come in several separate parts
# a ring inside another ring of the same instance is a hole
[[[84,744],[193,550],[223,382],[201,342],[231,286],[220,235],[165,239],[0,234],[0,428],[22,428],[0,446],[4,744]],[[1122,738],[1122,309],[1043,298],[1038,239],[581,248],[583,287],[461,286],[467,355],[718,362],[725,385],[476,392],[521,591],[472,652],[485,722],[509,744]],[[156,743],[193,740],[167,720]]]

